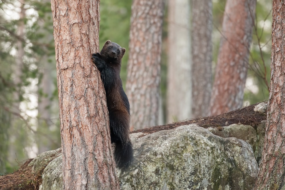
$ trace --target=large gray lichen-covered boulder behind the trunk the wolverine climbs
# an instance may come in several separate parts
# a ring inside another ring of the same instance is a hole
[[[121,189],[246,190],[255,184],[258,165],[244,140],[222,138],[195,124],[133,133],[131,139],[135,160],[128,171],[117,170]],[[62,189],[62,156],[55,152],[40,189]]]

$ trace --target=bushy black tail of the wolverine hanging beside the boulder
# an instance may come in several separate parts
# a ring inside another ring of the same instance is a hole
[[[114,143],[114,157],[118,168],[127,169],[133,161],[133,146],[131,140]]]

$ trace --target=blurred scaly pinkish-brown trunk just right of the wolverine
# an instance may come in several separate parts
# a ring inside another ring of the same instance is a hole
[[[126,93],[131,130],[158,124],[163,0],[132,5]]]

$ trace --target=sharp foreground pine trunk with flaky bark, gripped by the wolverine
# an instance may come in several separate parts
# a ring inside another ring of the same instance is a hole
[[[99,0],[52,0],[64,189],[119,189],[99,52]]]

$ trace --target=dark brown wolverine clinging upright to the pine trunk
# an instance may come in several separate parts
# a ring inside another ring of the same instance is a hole
[[[101,73],[106,91],[110,119],[111,143],[119,168],[127,168],[133,160],[133,148],[129,137],[130,105],[120,78],[121,61],[126,49],[107,40],[100,53],[92,54],[93,63]]]

